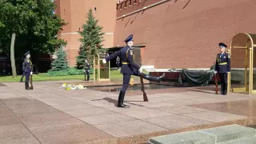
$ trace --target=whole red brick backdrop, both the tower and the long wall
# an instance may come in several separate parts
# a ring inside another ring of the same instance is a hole
[[[255,0],[57,0],[56,13],[69,24],[58,38],[67,41],[75,66],[77,33],[91,8],[105,32],[104,48],[124,46],[129,34],[140,45],[143,66],[155,69],[209,69],[218,43],[230,46],[235,34],[256,34]]]

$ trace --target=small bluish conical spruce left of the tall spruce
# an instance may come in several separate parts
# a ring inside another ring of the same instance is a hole
[[[52,62],[52,69],[53,71],[59,71],[59,70],[67,70],[68,62],[66,58],[66,52],[63,50],[63,47],[60,46],[60,48],[56,51],[57,58]]]

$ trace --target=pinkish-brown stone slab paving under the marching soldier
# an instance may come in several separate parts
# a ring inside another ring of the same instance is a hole
[[[118,92],[62,90],[60,82],[0,85],[0,144],[143,143],[161,134],[233,123],[253,125],[256,97],[214,94],[213,87]]]

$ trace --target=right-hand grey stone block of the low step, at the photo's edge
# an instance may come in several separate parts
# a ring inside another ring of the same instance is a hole
[[[228,142],[240,138],[249,138],[256,134],[255,129],[240,125],[220,126],[199,130],[199,132],[214,136],[216,143]]]

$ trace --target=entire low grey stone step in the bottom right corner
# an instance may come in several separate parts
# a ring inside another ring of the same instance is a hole
[[[178,134],[168,134],[149,139],[150,144],[215,144],[229,142],[256,135],[256,130],[246,126],[219,126],[206,130],[196,130]]]

